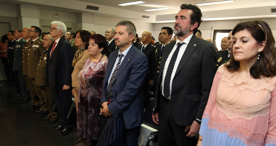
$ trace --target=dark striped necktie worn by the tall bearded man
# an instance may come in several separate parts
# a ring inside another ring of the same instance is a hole
[[[168,69],[167,69],[167,73],[165,76],[165,80],[164,80],[164,85],[163,85],[163,93],[165,98],[168,98],[170,96],[170,82],[171,82],[171,73],[174,69],[174,63],[176,61],[178,52],[179,52],[179,48],[183,45],[184,43],[179,42],[177,43],[177,47],[176,50],[174,51],[174,54],[171,57],[171,61],[169,63]]]

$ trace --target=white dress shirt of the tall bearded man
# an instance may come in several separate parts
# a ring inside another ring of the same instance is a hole
[[[179,52],[178,52],[178,55],[177,55],[177,58],[176,58],[176,61],[174,63],[174,69],[171,73],[171,80],[170,80],[170,96],[167,98],[167,99],[171,99],[171,85],[172,85],[172,81],[174,79],[174,75],[176,73],[176,69],[178,67],[178,64],[186,50],[186,47],[188,46],[191,38],[192,38],[193,34],[191,34],[190,36],[188,36],[186,39],[184,39],[182,42],[184,43],[180,48],[179,48]],[[169,66],[169,63],[171,61],[171,57],[172,55],[174,54],[174,51],[176,50],[177,48],[177,43],[181,42],[179,39],[176,39],[176,43],[173,47],[173,49],[171,50],[171,53],[169,54],[166,62],[165,62],[165,65],[164,65],[164,69],[163,69],[163,75],[162,75],[162,82],[161,82],[161,86],[160,86],[160,90],[162,91],[162,95],[164,96],[164,92],[163,92],[163,85],[164,85],[164,80],[165,80],[165,76],[166,76],[166,73],[167,73],[167,69],[168,69],[168,66]]]

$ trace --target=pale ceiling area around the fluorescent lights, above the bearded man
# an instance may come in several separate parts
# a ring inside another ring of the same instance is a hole
[[[188,4],[198,4],[205,2],[217,2],[222,0],[141,0],[145,3],[129,5],[129,6],[119,6],[117,4],[133,2],[137,0],[79,0],[82,2],[89,2],[104,6],[116,7],[120,9],[127,9],[141,13],[150,13],[154,15],[165,15],[165,14],[174,14],[177,13],[180,9],[180,6],[183,3]],[[224,10],[224,9],[241,9],[241,8],[251,8],[251,7],[263,7],[263,6],[276,6],[276,0],[235,0],[236,2],[225,3],[225,4],[216,4],[216,5],[207,5],[207,6],[198,6],[202,12],[204,11],[214,11],[214,10]],[[154,8],[163,8],[167,7],[170,9],[167,10],[158,10],[158,11],[144,11],[144,9],[154,9]]]

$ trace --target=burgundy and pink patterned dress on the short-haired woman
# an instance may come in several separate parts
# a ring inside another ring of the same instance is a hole
[[[100,62],[90,62],[88,58],[79,72],[77,135],[83,135],[88,141],[98,140],[106,123],[105,116],[99,114],[107,62],[107,58]]]

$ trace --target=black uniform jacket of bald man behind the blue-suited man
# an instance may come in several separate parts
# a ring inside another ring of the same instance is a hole
[[[142,49],[142,45],[137,47],[138,50]],[[149,43],[147,47],[144,48],[142,51],[148,58],[148,71],[147,75],[145,78],[145,83],[148,83],[150,80],[154,80],[153,72],[154,72],[154,61],[152,58],[154,58],[154,51],[155,51],[155,46],[151,45]]]

